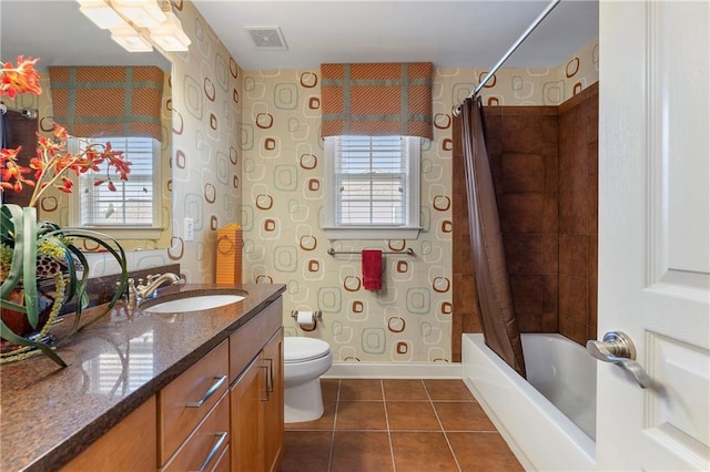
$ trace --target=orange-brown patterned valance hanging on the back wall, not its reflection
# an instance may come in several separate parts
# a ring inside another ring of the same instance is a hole
[[[321,135],[432,138],[430,62],[321,64]]]

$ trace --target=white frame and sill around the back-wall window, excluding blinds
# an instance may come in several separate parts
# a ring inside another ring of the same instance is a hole
[[[402,225],[342,225],[338,224],[336,205],[339,201],[336,183],[339,181],[337,170],[337,142],[341,136],[327,136],[325,146],[325,204],[324,224],[322,229],[328,239],[416,239],[422,229],[420,219],[420,155],[422,138],[417,136],[400,136],[406,140],[405,158],[407,174],[405,176],[407,195],[405,197],[405,222]]]

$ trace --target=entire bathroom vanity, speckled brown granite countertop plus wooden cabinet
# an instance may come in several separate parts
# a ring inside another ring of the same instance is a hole
[[[166,287],[132,311],[118,304],[71,338],[60,348],[68,368],[43,356],[3,365],[0,470],[277,469],[284,289]],[[245,298],[150,312],[162,300],[230,290]]]

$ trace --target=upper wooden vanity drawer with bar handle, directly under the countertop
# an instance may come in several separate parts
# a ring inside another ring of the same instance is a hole
[[[227,374],[229,343],[225,340],[160,391],[158,417],[161,464],[178,450],[226,392]]]

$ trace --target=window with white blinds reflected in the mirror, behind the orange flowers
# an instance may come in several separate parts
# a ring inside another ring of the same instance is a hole
[[[104,166],[101,172],[81,174],[75,183],[79,191],[72,194],[75,199],[71,225],[102,232],[111,228],[110,233],[118,238],[120,235],[115,233],[121,230],[130,230],[131,238],[141,230],[144,230],[141,236],[150,237],[161,226],[160,165],[154,164],[160,160],[161,144],[152,137],[138,136],[70,138],[69,148],[79,152],[81,147],[106,142],[132,163],[129,179],[121,181],[112,173],[115,192],[111,192],[105,183],[94,186],[97,181],[106,179]]]

